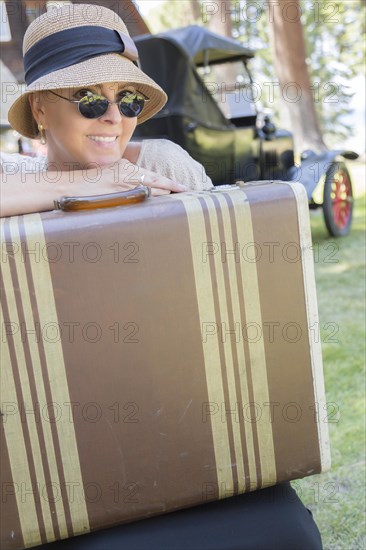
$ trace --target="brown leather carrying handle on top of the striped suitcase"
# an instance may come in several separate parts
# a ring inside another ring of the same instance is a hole
[[[138,185],[129,191],[120,193],[108,193],[105,195],[93,195],[87,197],[61,197],[54,201],[56,210],[75,212],[77,210],[94,210],[96,208],[109,208],[110,206],[123,206],[142,202],[151,194],[150,187]]]

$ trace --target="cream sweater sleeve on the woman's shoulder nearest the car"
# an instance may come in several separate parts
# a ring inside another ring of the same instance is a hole
[[[180,145],[167,139],[143,140],[136,164],[187,185],[192,190],[202,191],[213,187],[202,164]]]

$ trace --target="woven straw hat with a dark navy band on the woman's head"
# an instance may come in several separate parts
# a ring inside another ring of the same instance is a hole
[[[122,19],[103,6],[68,4],[47,11],[29,25],[23,56],[27,86],[8,117],[25,137],[38,137],[29,104],[35,91],[112,82],[132,85],[149,99],[138,124],[167,101],[160,86],[137,67],[137,49]]]

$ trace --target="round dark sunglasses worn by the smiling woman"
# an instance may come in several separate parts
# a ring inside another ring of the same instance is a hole
[[[79,113],[85,118],[100,118],[107,112],[110,105],[118,105],[121,115],[134,118],[141,113],[145,101],[149,101],[140,93],[130,91],[121,92],[121,97],[118,101],[109,101],[107,98],[92,92],[88,92],[81,99],[69,99],[52,90],[48,91],[61,99],[66,99],[69,103],[77,103]]]

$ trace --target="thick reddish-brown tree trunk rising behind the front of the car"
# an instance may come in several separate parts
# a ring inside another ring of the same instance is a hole
[[[295,149],[327,149],[319,127],[306,64],[299,0],[269,0],[270,39],[282,102],[288,110]]]

